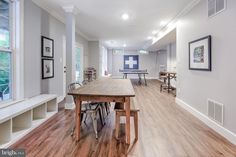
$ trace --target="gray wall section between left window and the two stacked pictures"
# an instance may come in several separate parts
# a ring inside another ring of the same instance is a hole
[[[41,92],[41,9],[32,1],[24,1],[24,94]]]

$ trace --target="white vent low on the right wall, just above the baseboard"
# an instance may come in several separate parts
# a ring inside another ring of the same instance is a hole
[[[224,105],[216,101],[208,99],[207,101],[207,115],[220,125],[223,125]]]

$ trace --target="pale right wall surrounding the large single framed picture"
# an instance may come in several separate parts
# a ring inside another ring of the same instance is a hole
[[[177,26],[177,98],[203,114],[207,99],[223,103],[224,127],[236,133],[236,1],[227,0],[227,10],[207,17],[207,3],[201,1]],[[212,36],[212,72],[188,69],[188,43]]]

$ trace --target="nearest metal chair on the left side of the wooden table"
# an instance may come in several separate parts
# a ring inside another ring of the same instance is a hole
[[[68,89],[69,89],[69,91],[72,91],[72,90],[75,90],[75,89],[77,89],[81,86],[82,85],[80,83],[75,82],[75,83],[71,83],[68,86]],[[74,110],[74,112],[75,112],[75,110]],[[97,113],[99,113],[101,124],[103,126],[104,125],[103,113],[102,113],[102,108],[101,108],[100,103],[93,103],[93,102],[83,102],[82,103],[82,106],[81,106],[81,122],[84,121],[84,123],[86,124],[87,115],[91,116],[96,139],[98,138]],[[84,118],[84,115],[85,115],[85,118]],[[75,121],[75,118],[74,118],[74,121]],[[73,123],[73,124],[75,124],[75,123]],[[72,127],[71,136],[74,135],[74,130],[75,130],[75,125],[73,125],[73,127]]]

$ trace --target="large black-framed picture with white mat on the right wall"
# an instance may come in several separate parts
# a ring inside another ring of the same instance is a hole
[[[189,43],[189,69],[211,71],[211,36]]]

